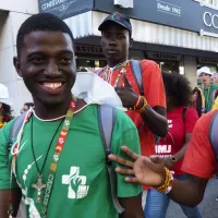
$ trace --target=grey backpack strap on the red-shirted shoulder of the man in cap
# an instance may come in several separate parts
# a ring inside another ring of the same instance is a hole
[[[137,83],[137,87],[140,88],[140,94],[144,96],[144,88],[143,88],[143,71],[141,62],[137,60],[131,60],[130,61],[131,69],[133,72],[133,76],[135,78],[135,82]]]

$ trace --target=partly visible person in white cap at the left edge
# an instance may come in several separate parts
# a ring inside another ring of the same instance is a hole
[[[12,100],[7,86],[0,84],[0,129],[13,119],[11,116]]]

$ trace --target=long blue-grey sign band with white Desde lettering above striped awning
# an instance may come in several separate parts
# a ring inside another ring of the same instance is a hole
[[[218,10],[198,0],[134,0],[133,9],[114,5],[114,0],[38,0],[38,4],[40,12],[62,19],[92,10],[118,11],[132,19],[218,37]]]

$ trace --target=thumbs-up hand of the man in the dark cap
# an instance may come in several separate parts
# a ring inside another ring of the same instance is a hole
[[[125,73],[123,74],[122,78],[124,86],[116,87],[116,92],[119,95],[123,107],[133,109],[138,99],[138,95],[133,90]]]

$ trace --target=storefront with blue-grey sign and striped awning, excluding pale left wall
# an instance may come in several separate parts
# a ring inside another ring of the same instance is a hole
[[[59,15],[71,27],[78,70],[106,64],[98,26],[113,11],[131,17],[130,59],[153,59],[162,70],[185,74],[193,86],[198,68],[218,70],[217,0],[39,0],[39,11]]]

